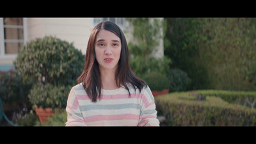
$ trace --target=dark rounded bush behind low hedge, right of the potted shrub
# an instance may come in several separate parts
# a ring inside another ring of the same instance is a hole
[[[178,68],[172,68],[169,70],[167,76],[170,81],[169,92],[189,90],[191,79],[186,72]]]

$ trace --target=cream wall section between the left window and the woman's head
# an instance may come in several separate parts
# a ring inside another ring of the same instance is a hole
[[[44,36],[56,36],[73,42],[85,54],[92,31],[92,18],[28,18],[28,42]]]

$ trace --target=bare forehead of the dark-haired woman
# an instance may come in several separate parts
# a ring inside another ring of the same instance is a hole
[[[100,39],[101,40],[106,40],[106,41],[108,41],[108,40],[110,40],[110,41],[112,41],[112,40],[120,41],[120,38],[117,35],[115,35],[115,33],[112,33],[111,31],[107,31],[106,29],[101,29],[99,31],[99,33],[97,33],[96,42]]]

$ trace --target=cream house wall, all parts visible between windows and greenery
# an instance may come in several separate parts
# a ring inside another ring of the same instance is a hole
[[[73,42],[74,47],[81,49],[83,54],[86,53],[88,39],[93,29],[93,18],[26,18],[25,21],[24,33],[28,36],[24,38],[26,42],[51,35],[70,43]],[[132,26],[131,24],[126,26],[129,28],[125,29],[127,33],[124,34],[129,43],[132,40]],[[163,40],[160,40],[160,45],[152,56],[163,57]],[[15,58],[16,56],[1,58],[0,65],[12,65]]]

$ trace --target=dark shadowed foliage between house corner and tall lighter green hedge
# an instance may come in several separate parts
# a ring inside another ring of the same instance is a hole
[[[202,24],[193,18],[168,18],[164,36],[170,44],[164,47],[164,54],[172,59],[170,67],[179,68],[191,78],[193,89],[209,88],[207,69],[200,60],[198,47]],[[164,41],[165,43],[166,41]]]

